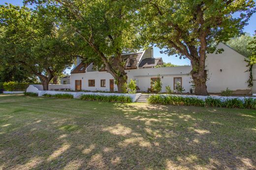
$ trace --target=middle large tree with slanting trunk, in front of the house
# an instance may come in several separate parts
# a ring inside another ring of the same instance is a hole
[[[40,1],[39,1],[40,2]],[[136,48],[136,28],[129,0],[51,0],[59,17],[81,37],[83,59],[103,66],[123,92],[127,82],[122,53]]]

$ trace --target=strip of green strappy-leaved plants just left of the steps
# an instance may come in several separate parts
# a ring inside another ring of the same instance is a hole
[[[83,94],[80,96],[80,100],[91,100],[91,101],[102,101],[102,102],[120,102],[120,103],[131,103],[132,99],[130,96],[117,96],[117,95],[96,95],[96,94]]]

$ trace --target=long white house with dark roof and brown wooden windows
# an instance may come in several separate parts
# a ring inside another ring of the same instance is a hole
[[[227,87],[235,93],[247,94],[256,92],[256,88],[248,87],[249,72],[245,57],[220,43],[218,48],[223,48],[222,54],[208,54],[206,68],[208,70],[207,90],[210,93],[218,93]],[[153,48],[143,52],[123,55],[126,60],[125,71],[130,79],[136,80],[140,91],[148,91],[151,82],[160,77],[162,92],[165,86],[169,85],[173,90],[177,82],[180,82],[189,92],[192,88],[191,76],[189,75],[192,66],[160,67],[161,58],[153,57]],[[253,70],[256,75],[256,68]],[[114,85],[114,78],[104,69],[96,71],[93,63],[83,64],[77,60],[77,66],[71,70],[70,85],[72,90],[88,91],[117,91]],[[252,91],[251,91],[252,90]]]

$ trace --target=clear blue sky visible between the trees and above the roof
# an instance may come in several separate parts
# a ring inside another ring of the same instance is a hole
[[[12,3],[14,5],[22,5],[23,0],[0,0],[0,4]],[[255,34],[256,30],[256,13],[253,14],[253,16],[250,18],[249,24],[244,27],[244,32],[248,32],[252,35]],[[165,54],[160,53],[160,49],[158,47],[154,47],[154,57],[162,57],[163,62],[171,62],[175,65],[190,65],[190,60],[188,58],[186,59],[179,59],[179,57],[174,56],[168,56]],[[70,70],[65,70],[66,73],[70,73]]]

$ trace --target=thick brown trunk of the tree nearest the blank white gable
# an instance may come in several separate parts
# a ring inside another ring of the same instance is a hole
[[[195,71],[196,66],[192,65],[192,79],[193,83],[195,85],[195,95],[200,95],[200,96],[208,96],[207,92],[207,86],[206,86],[206,81],[207,81],[207,71],[204,69],[204,65],[199,66],[198,71]],[[198,68],[198,67],[197,67]]]

